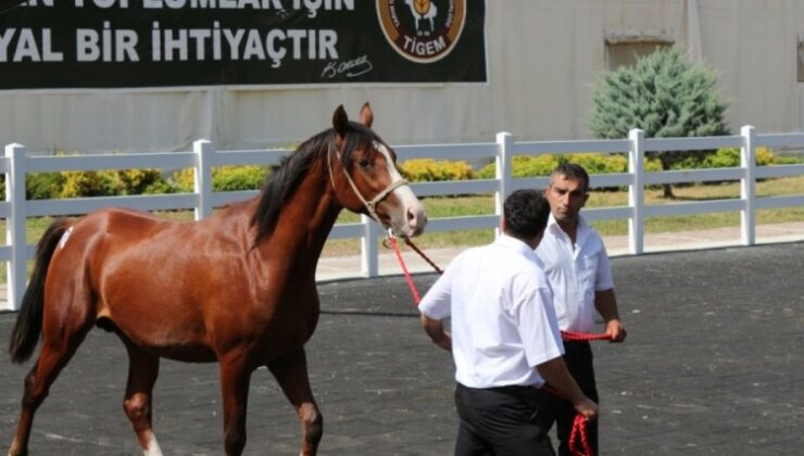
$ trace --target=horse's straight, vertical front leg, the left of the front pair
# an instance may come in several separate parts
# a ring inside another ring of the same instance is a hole
[[[239,456],[246,446],[246,410],[251,369],[241,354],[221,358],[221,393],[224,405],[226,456]]]

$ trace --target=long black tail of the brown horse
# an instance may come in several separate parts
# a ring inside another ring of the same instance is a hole
[[[23,304],[16,324],[9,338],[11,360],[20,364],[26,362],[34,353],[39,334],[42,331],[42,308],[45,305],[45,279],[48,276],[50,258],[53,257],[59,240],[67,230],[67,220],[53,221],[42,235],[36,249],[36,263],[30,282],[23,295]]]

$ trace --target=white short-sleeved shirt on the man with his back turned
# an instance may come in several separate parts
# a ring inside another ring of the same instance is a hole
[[[503,235],[455,257],[418,308],[452,317],[458,383],[539,387],[535,367],[564,353],[551,294],[535,252]]]

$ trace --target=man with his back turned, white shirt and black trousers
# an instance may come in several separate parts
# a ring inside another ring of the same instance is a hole
[[[455,362],[457,456],[554,455],[545,381],[587,419],[598,415],[562,359],[552,292],[533,252],[549,214],[540,192],[512,193],[503,235],[455,257],[419,303],[425,331]]]

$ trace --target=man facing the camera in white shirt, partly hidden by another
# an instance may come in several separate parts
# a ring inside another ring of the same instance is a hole
[[[562,331],[592,332],[595,309],[605,321],[613,342],[623,342],[626,329],[617,312],[614,281],[603,240],[580,215],[589,199],[589,175],[579,165],[564,163],[553,172],[544,189],[550,202],[550,219],[536,254],[553,290],[553,303]],[[598,402],[592,349],[589,342],[564,342],[564,362],[583,394]],[[568,441],[575,410],[571,404],[557,403],[549,426],[556,422],[558,454],[571,455]],[[590,422],[587,435],[598,454],[598,421]]]

